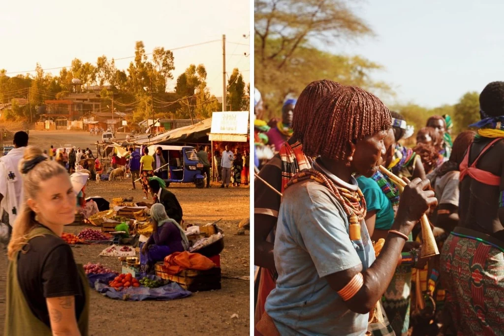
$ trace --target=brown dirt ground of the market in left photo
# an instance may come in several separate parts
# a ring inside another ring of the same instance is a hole
[[[98,137],[84,132],[30,132],[30,144],[49,148],[52,144],[72,144],[91,147]],[[94,151],[93,151],[94,152]],[[221,253],[222,289],[194,293],[191,297],[173,301],[125,302],[112,300],[91,292],[90,335],[150,334],[150,335],[218,335],[249,334],[249,282],[232,277],[250,275],[249,232],[236,235],[238,223],[249,216],[249,188],[220,189],[213,183],[210,189],[196,189],[191,184],[171,184],[169,190],[183,209],[186,223],[205,224],[222,218],[225,249]],[[141,189],[130,191],[131,180],[122,182],[91,181],[87,196],[133,196],[142,201]],[[140,185],[137,184],[137,188]],[[69,226],[65,232],[79,233],[84,227]],[[73,248],[78,263],[101,262],[120,271],[114,257],[99,257],[104,245],[82,245]],[[7,269],[7,258],[0,257],[0,269]],[[5,320],[5,272],[0,274],[0,333]],[[238,318],[231,319],[237,314]]]

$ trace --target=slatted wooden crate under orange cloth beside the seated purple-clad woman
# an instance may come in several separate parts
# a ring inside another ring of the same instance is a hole
[[[162,279],[173,281],[190,292],[204,292],[221,289],[221,269],[214,267],[209,270],[184,269],[176,275],[166,273],[163,262],[155,265],[156,275]]]

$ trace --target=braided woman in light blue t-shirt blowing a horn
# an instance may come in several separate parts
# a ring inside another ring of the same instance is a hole
[[[356,87],[326,95],[300,139],[317,157],[292,177],[275,235],[276,288],[256,334],[362,335],[369,312],[387,289],[408,234],[431,205],[428,180],[404,189],[394,225],[375,258],[357,173],[371,177],[382,163],[389,110]]]

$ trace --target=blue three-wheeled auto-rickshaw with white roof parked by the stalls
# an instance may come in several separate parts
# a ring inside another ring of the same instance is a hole
[[[192,146],[149,146],[149,154],[154,155],[158,147],[163,151],[167,166],[161,169],[161,176],[166,187],[173,183],[194,183],[196,188],[205,186],[205,177],[201,174],[203,163]]]

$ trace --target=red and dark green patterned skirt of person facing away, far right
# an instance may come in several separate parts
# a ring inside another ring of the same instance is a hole
[[[458,335],[504,335],[504,248],[488,237],[455,228],[443,246],[445,308]]]

